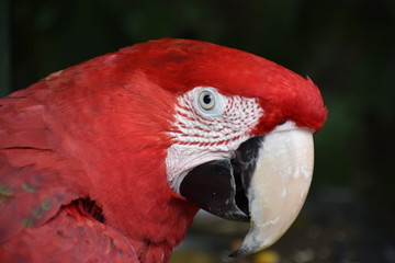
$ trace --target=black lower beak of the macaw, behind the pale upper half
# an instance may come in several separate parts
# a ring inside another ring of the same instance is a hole
[[[180,194],[213,215],[249,221],[247,190],[261,147],[262,137],[253,137],[240,145],[234,158],[194,168],[181,182]]]

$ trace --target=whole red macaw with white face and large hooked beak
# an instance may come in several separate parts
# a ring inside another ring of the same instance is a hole
[[[163,38],[0,101],[1,262],[167,262],[194,215],[275,242],[313,173],[318,88],[264,58]]]

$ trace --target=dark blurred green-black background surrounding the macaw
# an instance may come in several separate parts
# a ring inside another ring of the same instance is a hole
[[[394,0],[1,0],[0,94],[160,37],[235,47],[320,88],[307,202],[269,250],[230,259],[248,226],[199,214],[171,262],[395,262]]]

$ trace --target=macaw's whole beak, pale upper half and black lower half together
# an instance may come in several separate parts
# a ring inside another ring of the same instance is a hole
[[[226,219],[250,221],[232,256],[273,244],[306,198],[314,164],[313,132],[286,122],[240,145],[230,160],[201,164],[180,185],[181,195]]]

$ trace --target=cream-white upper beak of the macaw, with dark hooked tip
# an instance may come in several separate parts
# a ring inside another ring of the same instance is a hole
[[[247,193],[250,229],[232,255],[253,253],[280,239],[305,202],[313,165],[312,130],[287,122],[264,136]]]

